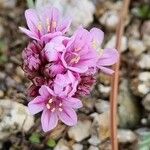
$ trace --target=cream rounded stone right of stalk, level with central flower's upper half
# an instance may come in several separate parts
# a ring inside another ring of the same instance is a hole
[[[137,39],[130,39],[128,46],[129,50],[133,53],[134,56],[139,56],[146,50],[144,43]]]

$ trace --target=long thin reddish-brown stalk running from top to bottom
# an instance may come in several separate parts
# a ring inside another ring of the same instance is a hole
[[[116,49],[120,52],[121,39],[125,28],[125,19],[128,13],[130,0],[124,0],[123,10],[120,15],[119,24],[116,30]],[[121,56],[121,55],[120,55]],[[111,124],[111,146],[112,150],[118,150],[118,140],[117,140],[117,99],[118,99],[118,86],[119,86],[119,68],[120,61],[118,61],[114,66],[114,74],[111,78],[111,94],[110,94],[110,124]]]

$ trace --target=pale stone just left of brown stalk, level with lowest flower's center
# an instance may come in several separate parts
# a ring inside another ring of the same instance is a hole
[[[98,113],[104,113],[110,109],[108,101],[98,99],[95,101],[95,108]]]

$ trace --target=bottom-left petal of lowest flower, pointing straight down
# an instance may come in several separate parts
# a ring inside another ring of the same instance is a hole
[[[44,109],[41,116],[41,123],[44,132],[48,132],[54,129],[58,123],[58,117],[56,112],[51,112],[48,109]]]

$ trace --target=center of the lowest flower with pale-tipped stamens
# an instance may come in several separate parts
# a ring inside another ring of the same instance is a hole
[[[53,99],[49,99],[48,103],[46,104],[46,108],[49,109],[51,112],[63,111],[62,103],[54,101]]]

